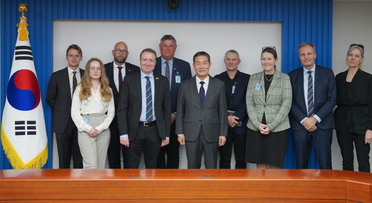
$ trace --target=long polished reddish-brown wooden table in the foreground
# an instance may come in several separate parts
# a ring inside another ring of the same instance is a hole
[[[0,170],[0,203],[372,203],[372,174],[338,170]]]

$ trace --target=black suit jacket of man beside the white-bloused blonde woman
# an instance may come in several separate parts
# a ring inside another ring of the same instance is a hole
[[[165,140],[170,134],[170,91],[168,79],[154,73],[154,111],[160,137]],[[119,135],[128,134],[134,140],[142,109],[141,72],[125,75],[118,105]]]

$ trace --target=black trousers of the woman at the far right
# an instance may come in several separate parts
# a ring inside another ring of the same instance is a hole
[[[365,135],[349,133],[346,125],[342,125],[336,131],[337,142],[339,143],[342,155],[342,168],[345,171],[354,171],[354,145],[358,160],[358,170],[361,172],[371,172],[369,163],[370,144],[365,143]]]

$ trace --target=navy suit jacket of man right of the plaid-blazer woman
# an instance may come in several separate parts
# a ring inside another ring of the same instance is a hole
[[[302,119],[307,117],[304,92],[304,68],[298,68],[289,72],[292,84],[292,130],[302,130]],[[315,66],[314,80],[314,114],[321,122],[317,127],[325,130],[334,128],[333,108],[336,106],[336,81],[332,69],[323,66]],[[306,92],[307,94],[307,92]]]

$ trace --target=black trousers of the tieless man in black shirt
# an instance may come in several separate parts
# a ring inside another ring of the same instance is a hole
[[[247,134],[238,135],[234,128],[228,128],[225,145],[219,147],[219,168],[231,168],[232,144],[234,144],[235,168],[247,168],[246,156]]]

